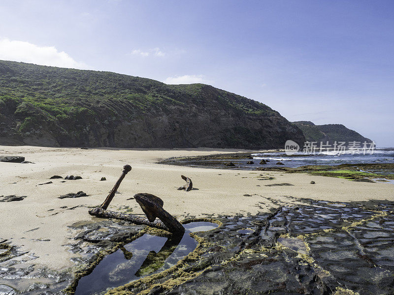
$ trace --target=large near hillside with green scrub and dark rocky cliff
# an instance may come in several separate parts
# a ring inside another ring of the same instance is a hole
[[[283,148],[301,130],[203,84],[0,61],[0,145]]]

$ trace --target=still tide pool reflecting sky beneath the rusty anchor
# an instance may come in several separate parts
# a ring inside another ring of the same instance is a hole
[[[197,241],[190,233],[209,231],[218,225],[191,222],[184,227],[181,238],[145,234],[105,256],[92,273],[79,280],[75,295],[105,294],[108,289],[170,268],[196,248]]]

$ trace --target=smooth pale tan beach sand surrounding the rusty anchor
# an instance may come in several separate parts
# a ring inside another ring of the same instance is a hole
[[[68,226],[99,220],[88,214],[89,206],[100,205],[121,175],[123,165],[131,172],[119,187],[109,209],[142,213],[134,200],[136,193],[154,194],[164,201],[164,209],[178,219],[188,215],[257,214],[275,205],[267,198],[286,202],[287,196],[338,201],[387,199],[394,201],[394,186],[389,183],[354,182],[333,177],[281,172],[235,171],[190,168],[155,164],[174,156],[208,155],[245,150],[234,149],[117,149],[117,148],[42,148],[0,146],[0,155],[22,155],[35,164],[0,162],[0,195],[27,196],[23,201],[0,203],[0,240],[8,239],[23,251],[38,256],[35,265],[64,269],[73,266],[75,254],[66,244],[75,235]],[[79,180],[49,179],[54,175],[81,176]],[[190,192],[176,188],[190,177]],[[258,180],[258,176],[273,180]],[[100,181],[106,177],[106,181]],[[316,184],[310,184],[313,180]],[[38,185],[52,181],[50,184]],[[291,183],[294,186],[264,186]],[[59,199],[60,195],[84,191],[89,196]],[[248,194],[250,196],[244,196]],[[67,206],[66,208],[61,208]],[[79,206],[79,207],[76,207]],[[75,208],[73,208],[75,207]],[[73,208],[73,209],[70,209]]]

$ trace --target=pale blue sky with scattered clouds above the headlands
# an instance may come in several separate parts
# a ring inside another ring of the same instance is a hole
[[[394,147],[394,1],[0,0],[0,59],[205,83]]]

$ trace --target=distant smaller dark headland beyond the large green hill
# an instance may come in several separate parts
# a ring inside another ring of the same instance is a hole
[[[328,142],[329,145],[334,142],[372,143],[369,138],[363,137],[360,133],[346,128],[342,124],[315,125],[311,121],[296,121],[293,124],[302,130],[305,139],[309,142]]]

